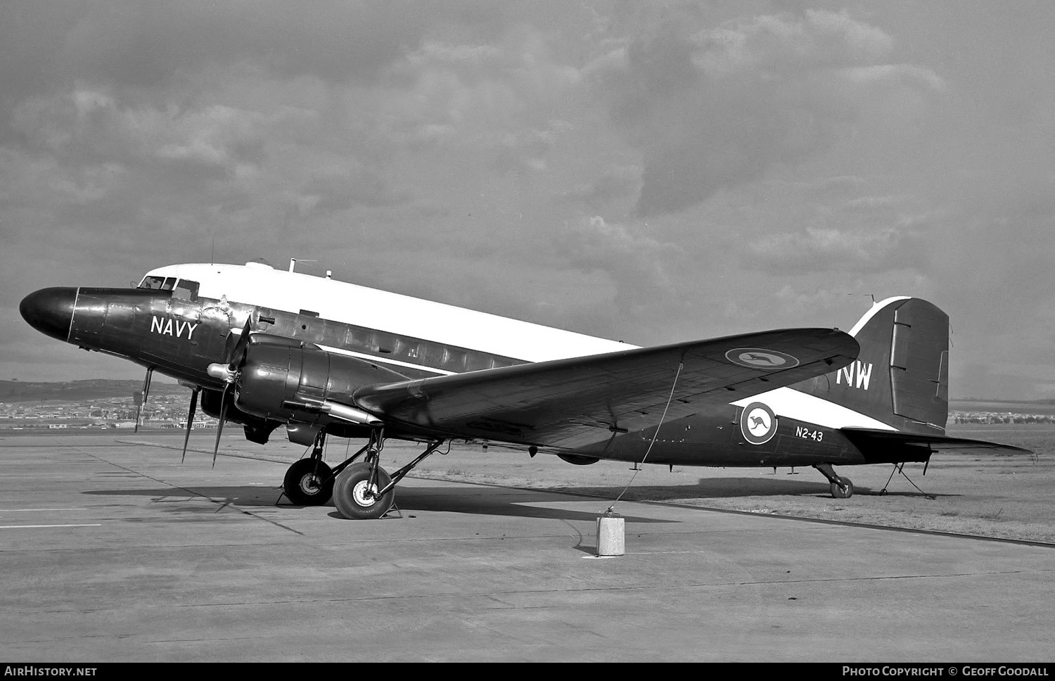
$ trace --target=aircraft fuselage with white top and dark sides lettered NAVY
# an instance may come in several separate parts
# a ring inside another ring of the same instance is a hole
[[[168,290],[42,289],[23,301],[22,311],[34,326],[50,336],[87,349],[129,359],[185,384],[216,392],[224,389],[225,381],[214,372],[210,373],[210,366],[224,361],[237,339],[237,333],[248,321],[254,333],[326,351],[325,354],[295,357],[283,354],[282,347],[275,351],[280,364],[301,362],[295,367],[300,382],[289,389],[290,394],[310,394],[313,399],[335,398],[344,402],[353,401],[356,383],[360,380],[392,382],[632,347],[452,306],[428,304],[434,307],[422,308],[417,305],[423,301],[273,270],[249,272],[261,277],[261,283],[254,289],[251,282],[248,287],[243,282],[241,287],[232,287],[229,297],[222,292],[226,284],[214,282],[233,279],[226,271],[217,271],[223,277],[211,278],[209,275],[215,269],[215,266],[200,265],[155,270],[158,280],[165,279],[166,275],[170,279],[181,276],[200,280],[193,282],[197,290],[192,291],[171,287]],[[293,289],[298,284],[307,288],[303,291],[287,289],[282,295],[269,296],[268,291],[279,290],[272,281],[276,277]],[[375,294],[387,298],[368,299]],[[286,304],[283,305],[280,300],[275,300],[277,304],[274,306],[264,304],[269,298],[284,299]],[[357,298],[366,300],[357,304]],[[291,300],[319,309],[290,305]],[[382,316],[384,319],[377,314],[379,307],[387,313],[387,316]],[[335,308],[346,311],[323,311]],[[365,310],[363,319],[357,320],[357,310]],[[409,319],[411,316],[414,318]],[[384,323],[383,327],[378,324],[379,321]],[[501,352],[505,347],[511,349]],[[348,361],[353,365],[342,372],[329,371],[328,365],[309,366],[312,362],[318,363],[322,356],[332,358],[327,360],[332,362],[352,358]],[[288,365],[279,368],[289,370],[290,375],[294,373]],[[361,376],[364,371],[377,374]],[[351,378],[341,384],[334,380],[334,375]],[[830,385],[839,380],[839,373],[833,372],[813,379],[813,382],[824,381]],[[728,404],[702,404],[692,416],[665,422],[658,428],[658,433],[655,428],[612,432],[610,437],[574,450],[538,449],[589,457],[583,460],[609,458],[639,461],[651,446],[648,462],[730,467],[807,466],[819,461],[851,465],[926,460],[929,456],[925,447],[898,444],[879,449],[855,444],[841,432],[841,428],[847,424],[889,427],[853,413],[829,418],[828,422],[823,422],[823,419],[817,422],[806,415],[818,413],[817,409],[811,409],[811,400],[823,400],[794,387],[779,389],[773,393],[772,399],[755,396]],[[774,401],[793,406],[778,413],[769,406]],[[206,409],[210,411],[208,400]],[[328,428],[346,436],[364,434],[362,429],[357,430],[340,419],[318,413],[277,413],[264,408],[254,411],[251,404],[242,404],[241,410],[234,415],[234,420],[247,425],[263,428],[270,422],[274,428],[280,422],[294,420]],[[656,420],[658,418],[659,414],[656,414]],[[515,424],[496,423],[493,428],[497,441],[525,449],[535,444],[531,432],[517,432]],[[444,436],[442,432],[409,424],[391,428],[388,435],[410,439]]]

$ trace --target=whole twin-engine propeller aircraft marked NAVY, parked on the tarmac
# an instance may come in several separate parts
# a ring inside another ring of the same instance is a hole
[[[190,386],[203,410],[264,443],[280,425],[312,446],[283,488],[381,517],[395,486],[444,442],[494,443],[571,464],[833,466],[928,461],[938,449],[1015,449],[945,435],[948,317],[917,298],[876,303],[847,334],[786,328],[634,347],[333,279],[186,264],[135,288],[44,288],[41,333]],[[365,440],[323,461],[326,435]],[[387,438],[424,451],[391,473]],[[187,439],[184,440],[184,453]],[[215,449],[213,452],[215,460]]]

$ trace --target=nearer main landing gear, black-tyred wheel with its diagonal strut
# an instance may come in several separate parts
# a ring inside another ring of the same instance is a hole
[[[376,519],[387,513],[396,503],[396,484],[403,479],[418,464],[423,461],[443,440],[429,442],[424,452],[391,475],[379,466],[381,450],[384,448],[382,429],[370,434],[366,446],[366,459],[356,464],[345,461],[333,483],[333,506],[349,519]],[[357,454],[358,456],[358,454]],[[354,457],[352,457],[354,458]]]

